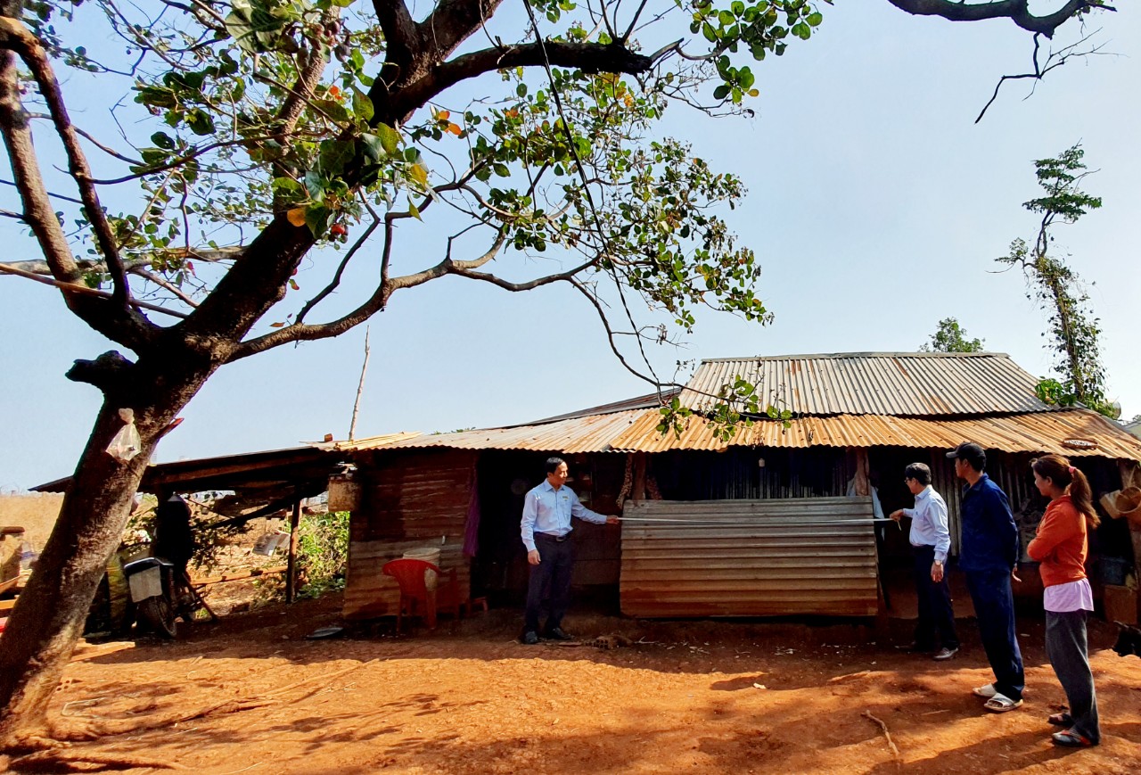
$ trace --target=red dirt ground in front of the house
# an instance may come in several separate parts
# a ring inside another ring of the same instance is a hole
[[[1100,622],[1091,639],[1104,741],[1066,751],[1049,742],[1045,717],[1065,697],[1033,619],[1019,628],[1026,704],[995,716],[970,694],[990,673],[969,620],[947,663],[850,624],[572,615],[568,629],[636,643],[527,647],[513,640],[511,611],[477,613],[456,632],[445,621],[435,633],[305,639],[335,623],[339,606],[337,596],[275,605],[173,644],[81,649],[52,703],[63,725],[216,710],[46,761],[0,757],[0,770],[159,772],[128,767],[151,760],[203,775],[1141,772],[1141,660],[1108,651],[1112,628]],[[896,640],[907,630],[892,622]],[[887,725],[898,757],[865,713]]]

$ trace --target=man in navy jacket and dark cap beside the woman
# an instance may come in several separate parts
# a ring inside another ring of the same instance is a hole
[[[987,465],[982,447],[963,442],[947,457],[955,460],[955,475],[966,482],[958,566],[966,573],[982,647],[995,673],[995,681],[974,694],[986,699],[987,710],[1004,713],[1021,707],[1026,686],[1010,588],[1011,578],[1017,578],[1018,527],[1006,493],[982,473]]]

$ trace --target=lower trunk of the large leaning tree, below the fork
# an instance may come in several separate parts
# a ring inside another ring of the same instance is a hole
[[[165,382],[165,389],[131,398],[105,390],[59,518],[0,636],[2,750],[39,748],[50,734],[48,703],[82,633],[107,559],[119,548],[143,471],[162,430],[205,381],[205,377],[188,379],[185,372],[180,377],[157,382]],[[147,385],[141,380],[137,384]],[[135,410],[141,439],[141,452],[126,463],[106,452],[123,427],[119,418],[122,407]]]

